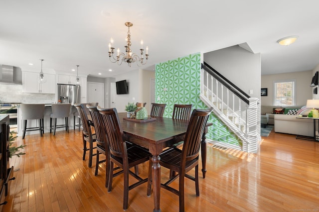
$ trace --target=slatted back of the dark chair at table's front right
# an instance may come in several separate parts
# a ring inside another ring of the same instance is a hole
[[[198,157],[205,125],[212,110],[212,108],[193,110],[184,139],[182,163],[186,163],[186,161],[193,160]]]

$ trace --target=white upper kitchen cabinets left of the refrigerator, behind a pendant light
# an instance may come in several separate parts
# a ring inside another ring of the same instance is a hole
[[[22,72],[23,93],[55,94],[55,75],[44,73],[44,83],[39,82],[38,72]]]

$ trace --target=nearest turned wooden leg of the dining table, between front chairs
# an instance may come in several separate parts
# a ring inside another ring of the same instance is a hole
[[[154,195],[154,212],[160,212],[160,156],[152,157],[152,184]]]

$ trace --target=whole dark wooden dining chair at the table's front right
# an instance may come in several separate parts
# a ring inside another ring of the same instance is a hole
[[[209,114],[213,108],[194,109],[192,111],[187,131],[185,134],[182,150],[172,147],[160,154],[160,166],[177,172],[161,187],[179,196],[179,211],[184,211],[184,178],[195,181],[196,197],[199,196],[198,185],[198,156],[205,125]],[[186,174],[195,167],[195,177]],[[172,181],[179,177],[178,191],[168,186]],[[151,192],[152,184],[148,183],[148,196]]]

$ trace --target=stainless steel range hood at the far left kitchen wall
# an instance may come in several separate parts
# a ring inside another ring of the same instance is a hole
[[[22,72],[18,67],[0,65],[0,84],[22,84]]]

